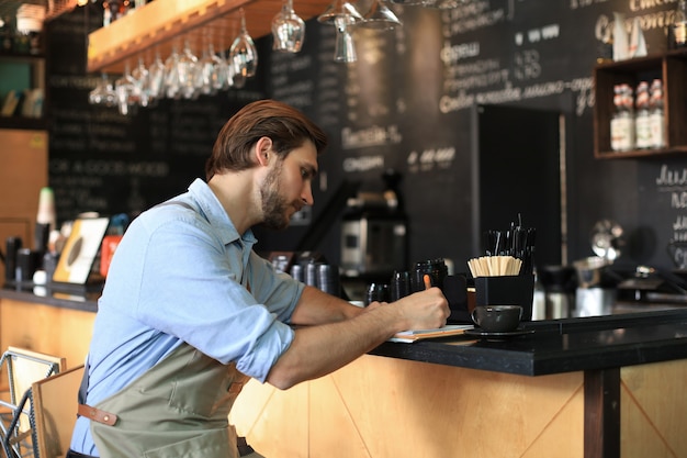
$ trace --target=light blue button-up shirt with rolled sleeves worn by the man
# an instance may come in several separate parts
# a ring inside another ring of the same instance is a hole
[[[303,284],[252,250],[210,187],[136,217],[113,256],[89,349],[89,405],[116,393],[182,342],[261,382],[293,340]],[[98,455],[89,420],[71,448]]]

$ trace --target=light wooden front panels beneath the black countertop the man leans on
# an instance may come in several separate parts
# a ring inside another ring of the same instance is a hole
[[[286,391],[251,380],[229,420],[270,458],[680,458],[684,380],[687,360],[620,369],[620,451],[602,440],[587,449],[585,434],[604,431],[585,431],[582,371],[527,377],[365,355]]]

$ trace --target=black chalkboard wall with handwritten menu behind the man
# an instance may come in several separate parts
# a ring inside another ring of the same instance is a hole
[[[593,152],[592,70],[613,12],[640,19],[650,53],[666,48],[663,23],[675,2],[635,10],[638,3],[475,0],[448,11],[394,5],[404,26],[356,31],[353,65],[333,62],[334,27],[311,20],[301,54],[273,55],[271,38],[258,40],[259,76],[245,89],[161,101],[133,116],[88,104],[100,78],[83,70],[86,35],[100,21],[98,4],[89,3],[88,10],[48,25],[49,180],[58,217],[91,210],[136,214],[183,192],[203,176],[224,121],[246,102],[271,97],[312,116],[331,146],[320,159],[312,213],[284,233],[258,228],[261,249],[303,248],[313,224],[329,210],[326,215],[335,216],[327,219],[329,230],[305,248],[338,262],[338,217],[331,211],[342,201],[337,192],[356,189],[350,183],[381,190],[382,174],[394,169],[402,174],[409,214],[409,259],[447,257],[465,270],[466,259],[480,255],[474,249],[480,234],[471,221],[478,201],[471,174],[471,111],[498,104],[564,115],[567,259],[562,261],[593,255],[594,223],[612,219],[628,238],[619,262],[672,267],[665,245],[686,234],[677,224],[684,217],[683,190],[658,178],[665,169],[682,174],[685,160],[596,160]],[[499,135],[498,126],[493,131]],[[504,156],[515,163],[526,160],[518,158],[523,154]],[[550,171],[533,168],[522,180],[554,192],[542,174]],[[503,227],[494,228],[506,228],[519,211],[505,210]],[[561,221],[560,214],[549,216],[551,227]]]

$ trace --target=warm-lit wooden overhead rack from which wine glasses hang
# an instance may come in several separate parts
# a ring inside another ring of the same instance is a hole
[[[296,0],[294,10],[304,21],[322,14],[329,0]],[[228,49],[240,29],[239,9],[246,29],[255,40],[271,33],[272,18],[281,0],[164,0],[154,1],[106,27],[89,34],[87,70],[123,72],[138,58],[149,63],[159,52],[165,59],[173,46],[179,51],[189,41],[192,51],[213,43],[215,51]]]

